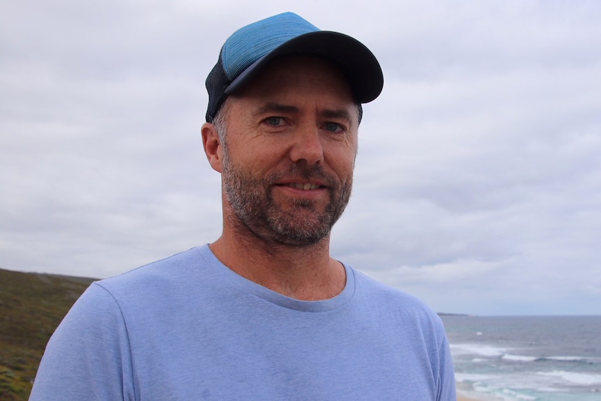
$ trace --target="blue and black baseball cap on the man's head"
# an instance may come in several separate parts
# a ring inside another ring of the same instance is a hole
[[[312,55],[340,68],[358,105],[379,96],[384,84],[374,54],[351,36],[320,31],[294,13],[254,22],[234,32],[221,48],[219,59],[206,78],[206,121],[212,122],[227,96],[252,80],[277,56]]]

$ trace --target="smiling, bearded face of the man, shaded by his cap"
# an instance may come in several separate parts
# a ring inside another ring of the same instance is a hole
[[[329,236],[357,150],[357,107],[340,72],[316,58],[273,61],[223,112],[226,220],[268,243]]]

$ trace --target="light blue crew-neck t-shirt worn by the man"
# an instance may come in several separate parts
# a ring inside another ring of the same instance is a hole
[[[345,268],[326,301],[257,285],[208,245],[95,282],[48,343],[30,400],[455,400],[439,317]]]

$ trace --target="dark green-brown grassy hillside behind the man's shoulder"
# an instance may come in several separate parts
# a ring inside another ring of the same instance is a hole
[[[46,343],[92,279],[0,269],[0,400],[27,400]]]

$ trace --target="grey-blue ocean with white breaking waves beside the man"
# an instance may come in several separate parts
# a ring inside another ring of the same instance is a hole
[[[459,393],[483,401],[601,401],[601,316],[442,319]]]

